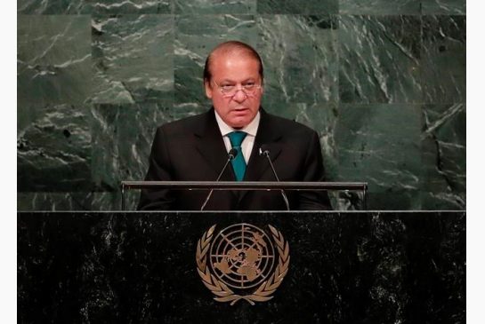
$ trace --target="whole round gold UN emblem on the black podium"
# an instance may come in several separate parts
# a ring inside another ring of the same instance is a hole
[[[273,297],[288,271],[289,247],[276,228],[268,227],[271,235],[246,223],[214,235],[213,225],[198,240],[198,274],[214,300],[255,304]]]

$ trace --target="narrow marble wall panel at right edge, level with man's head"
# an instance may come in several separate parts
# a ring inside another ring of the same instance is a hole
[[[423,16],[424,102],[465,103],[465,16]]]

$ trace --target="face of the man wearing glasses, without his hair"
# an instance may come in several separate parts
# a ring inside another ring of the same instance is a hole
[[[248,95],[242,91],[247,84],[262,84],[256,59],[240,53],[214,53],[211,66],[212,79],[206,83],[206,96],[212,99],[215,111],[233,128],[245,127],[253,121],[259,110],[263,87]],[[238,89],[228,97],[219,87],[234,86]]]

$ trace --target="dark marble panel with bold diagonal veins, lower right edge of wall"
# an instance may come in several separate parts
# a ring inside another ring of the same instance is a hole
[[[465,209],[465,105],[426,105],[423,114],[423,208]]]

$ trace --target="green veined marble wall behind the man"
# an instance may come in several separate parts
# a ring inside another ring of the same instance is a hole
[[[327,178],[367,181],[369,209],[465,208],[465,0],[17,8],[18,209],[119,209],[156,127],[208,107],[204,61],[229,39],[262,54],[263,107],[318,130]]]

